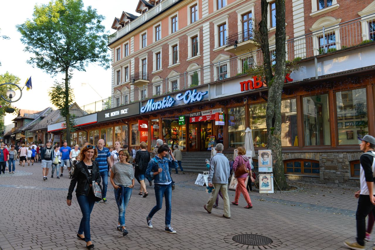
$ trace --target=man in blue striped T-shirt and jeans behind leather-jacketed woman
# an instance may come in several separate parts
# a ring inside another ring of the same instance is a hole
[[[102,183],[103,183],[103,190],[102,190],[102,198],[103,202],[107,203],[107,186],[108,186],[108,166],[110,166],[110,169],[112,168],[112,162],[111,162],[111,153],[108,148],[104,147],[105,142],[103,139],[100,139],[98,141],[98,156],[95,158],[95,160],[99,164],[99,171],[100,176],[102,177]],[[98,204],[100,201],[95,202]]]

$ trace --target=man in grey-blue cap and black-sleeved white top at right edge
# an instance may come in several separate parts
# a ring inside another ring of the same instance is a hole
[[[358,207],[356,213],[357,221],[357,241],[345,241],[344,245],[350,249],[365,249],[365,232],[366,232],[366,216],[369,213],[375,215],[375,138],[371,135],[365,135],[359,144],[360,150],[365,152],[360,157],[360,187],[354,197],[358,199]],[[375,250],[375,247],[372,249]]]

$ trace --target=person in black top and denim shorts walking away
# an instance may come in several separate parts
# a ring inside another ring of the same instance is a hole
[[[150,162],[151,156],[150,152],[148,152],[147,150],[147,144],[145,142],[141,142],[141,144],[139,145],[141,146],[141,150],[138,150],[135,153],[135,168],[137,168],[136,172],[138,173],[139,184],[141,184],[139,195],[143,196],[143,198],[146,198],[148,192],[146,190],[146,184],[144,183],[144,180],[148,162]]]

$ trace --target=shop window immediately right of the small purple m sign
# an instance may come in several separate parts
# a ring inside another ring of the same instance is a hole
[[[245,144],[245,107],[228,108],[228,143],[230,148]]]

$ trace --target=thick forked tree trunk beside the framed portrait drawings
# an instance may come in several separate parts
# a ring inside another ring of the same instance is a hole
[[[258,40],[263,53],[264,78],[268,86],[266,125],[267,148],[272,150],[272,166],[275,179],[281,189],[288,187],[281,154],[281,94],[285,81],[285,0],[276,0],[276,64],[272,66],[267,27],[268,1],[261,0],[261,16]],[[273,70],[275,74],[273,73]]]

